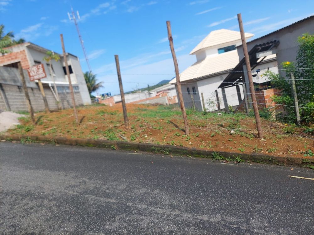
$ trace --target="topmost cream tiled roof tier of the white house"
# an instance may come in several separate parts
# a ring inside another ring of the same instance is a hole
[[[251,38],[254,34],[245,33],[245,38]],[[233,42],[241,39],[241,34],[238,31],[229,29],[219,29],[211,31],[206,38],[204,38],[191,52],[190,55],[194,54],[198,50],[216,46],[219,44]]]

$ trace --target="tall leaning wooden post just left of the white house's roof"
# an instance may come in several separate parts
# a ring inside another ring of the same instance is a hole
[[[184,107],[184,101],[183,101],[182,90],[181,90],[180,75],[179,75],[179,66],[178,66],[178,61],[176,59],[175,49],[173,47],[173,39],[172,39],[172,34],[171,34],[170,21],[168,20],[166,23],[167,23],[167,30],[168,30],[168,39],[169,39],[169,44],[170,44],[170,50],[171,50],[171,54],[172,54],[172,58],[173,58],[173,63],[175,65],[176,85],[177,85],[179,102],[180,102],[180,107],[181,107],[183,121],[184,121],[185,134],[189,135],[190,134],[189,123],[187,122],[187,112],[185,111],[185,107]]]

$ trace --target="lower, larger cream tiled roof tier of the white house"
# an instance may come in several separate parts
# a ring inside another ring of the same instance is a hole
[[[207,56],[188,67],[180,74],[180,81],[196,79],[210,74],[233,69],[239,63],[237,50],[228,51],[219,55]],[[176,83],[176,78],[170,84]]]

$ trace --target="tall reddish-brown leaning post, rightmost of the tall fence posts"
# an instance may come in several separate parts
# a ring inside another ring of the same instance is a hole
[[[253,109],[254,109],[254,114],[255,114],[258,137],[263,139],[263,130],[262,130],[262,125],[261,125],[261,118],[259,117],[259,112],[258,112],[258,107],[257,107],[257,102],[256,102],[256,97],[255,97],[251,64],[250,64],[249,53],[247,51],[247,45],[246,45],[246,40],[245,40],[245,35],[244,35],[241,13],[238,14],[238,21],[239,21],[239,27],[240,27],[240,33],[241,33],[243,53],[244,53],[244,58],[245,58],[245,62],[246,62],[247,76],[248,76],[249,83],[250,83],[250,91],[251,91],[251,97],[252,97]]]

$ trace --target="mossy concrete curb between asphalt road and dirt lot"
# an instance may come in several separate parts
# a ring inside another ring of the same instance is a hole
[[[160,145],[160,144],[147,144],[147,143],[136,143],[136,142],[125,142],[125,141],[110,141],[110,140],[94,140],[94,139],[79,139],[79,138],[50,138],[47,136],[36,136],[36,135],[0,135],[0,140],[8,141],[24,141],[24,142],[44,142],[51,144],[65,144],[65,145],[77,145],[77,146],[88,146],[88,147],[99,147],[106,149],[121,149],[131,151],[143,151],[155,154],[165,155],[180,155],[180,156],[193,156],[200,158],[213,158],[214,151],[202,150],[196,148],[179,147],[172,145]],[[242,160],[257,162],[262,164],[277,164],[277,165],[294,165],[294,166],[314,166],[313,159],[301,159],[293,158],[290,156],[279,157],[265,154],[243,154],[243,153],[232,153],[232,152],[216,152],[225,158],[234,159],[240,157]]]

